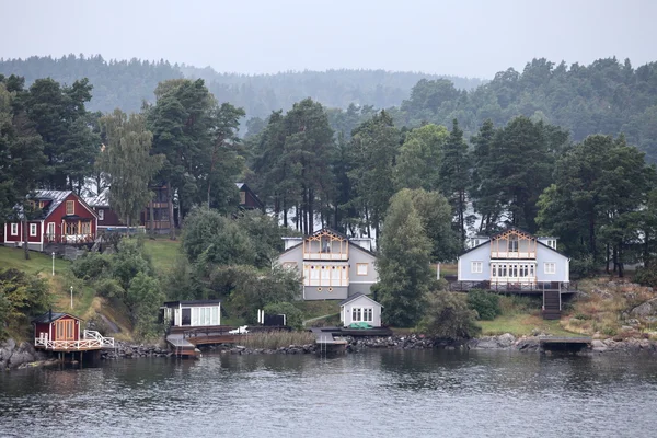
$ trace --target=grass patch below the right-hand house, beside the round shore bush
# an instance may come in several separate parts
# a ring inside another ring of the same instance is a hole
[[[514,336],[530,335],[537,328],[542,333],[554,336],[580,336],[564,330],[558,321],[543,320],[542,316],[519,313],[497,316],[493,321],[479,321],[483,335],[502,335],[510,333]]]

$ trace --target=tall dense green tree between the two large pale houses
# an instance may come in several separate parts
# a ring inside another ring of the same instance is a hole
[[[377,260],[383,320],[388,324],[411,327],[422,318],[431,280],[430,247],[412,192],[399,192],[388,209]]]

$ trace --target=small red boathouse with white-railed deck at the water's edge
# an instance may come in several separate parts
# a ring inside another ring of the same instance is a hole
[[[32,320],[34,347],[49,351],[87,351],[114,347],[113,337],[85,330],[80,333],[82,320],[69,313],[46,312]]]

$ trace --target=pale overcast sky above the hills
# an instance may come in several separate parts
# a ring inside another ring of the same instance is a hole
[[[219,72],[493,78],[532,58],[657,60],[657,0],[0,0],[0,58],[165,59]]]

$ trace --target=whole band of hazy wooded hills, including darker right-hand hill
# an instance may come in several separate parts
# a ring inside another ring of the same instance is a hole
[[[161,81],[201,78],[220,101],[246,112],[246,119],[265,119],[272,111],[289,110],[306,97],[331,110],[332,126],[346,136],[373,108],[387,108],[399,126],[457,118],[466,137],[484,120],[496,126],[523,115],[569,130],[580,141],[591,134],[624,134],[630,143],[657,162],[657,62],[633,67],[629,59],[598,59],[588,66],[548,59],[528,61],[522,71],[509,68],[492,80],[383,70],[288,71],[276,74],[219,73],[165,60],[105,60],[102,56],[0,59],[1,74],[71,84],[89,78],[93,99],[88,107],[138,112],[153,102]],[[354,105],[356,106],[354,106]],[[339,110],[351,110],[341,115]],[[367,112],[359,113],[360,107]],[[354,110],[356,108],[356,110]],[[358,114],[354,113],[356,111]],[[242,120],[244,128],[246,119]],[[262,127],[262,122],[257,122]],[[241,134],[244,134],[242,129]]]

